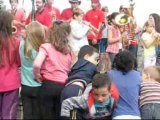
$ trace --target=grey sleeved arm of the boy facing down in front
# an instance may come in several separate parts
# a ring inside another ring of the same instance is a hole
[[[74,108],[87,109],[87,100],[84,96],[71,97],[62,102],[61,116],[70,117],[70,111]]]

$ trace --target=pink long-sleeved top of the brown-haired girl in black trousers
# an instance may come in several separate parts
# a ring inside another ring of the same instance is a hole
[[[33,65],[35,78],[41,75],[43,80],[64,84],[72,62],[71,53],[62,54],[50,43],[42,44]]]

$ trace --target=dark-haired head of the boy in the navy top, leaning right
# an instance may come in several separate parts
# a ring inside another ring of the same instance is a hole
[[[78,59],[81,58],[84,58],[85,60],[88,60],[89,62],[97,65],[99,59],[98,50],[92,46],[85,45],[78,53]]]

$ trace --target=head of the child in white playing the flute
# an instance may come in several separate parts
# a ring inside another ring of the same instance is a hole
[[[83,19],[84,12],[80,8],[73,9],[73,19],[81,21]]]

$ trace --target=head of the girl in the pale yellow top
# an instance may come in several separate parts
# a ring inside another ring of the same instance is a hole
[[[152,33],[154,30],[155,30],[155,26],[154,26],[153,22],[147,21],[144,24],[144,31],[145,32]]]

